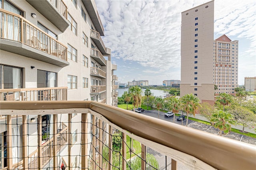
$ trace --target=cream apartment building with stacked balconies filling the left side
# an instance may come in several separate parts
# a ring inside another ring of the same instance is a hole
[[[111,63],[111,50],[102,41],[104,28],[94,0],[0,0],[0,17],[0,101],[89,100],[117,105],[117,65]],[[6,119],[1,118],[0,121]],[[30,115],[27,119],[38,123],[31,125],[33,133],[46,135],[40,141],[33,136],[30,142],[42,146],[52,140],[47,135],[53,130],[52,116]],[[68,127],[61,122],[78,121],[81,117],[57,119],[60,132],[68,128],[73,142],[78,142],[80,124]],[[22,136],[20,126],[12,131]],[[1,127],[0,168],[7,166],[7,133],[6,127]],[[28,154],[34,150],[30,148]],[[71,150],[80,148],[74,145]],[[68,148],[62,152],[68,152]],[[18,161],[13,159],[12,163]],[[70,164],[74,162],[79,164],[75,156]]]

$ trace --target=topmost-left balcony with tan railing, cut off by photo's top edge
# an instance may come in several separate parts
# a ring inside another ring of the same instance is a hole
[[[68,7],[62,0],[26,0],[61,32],[68,28]]]

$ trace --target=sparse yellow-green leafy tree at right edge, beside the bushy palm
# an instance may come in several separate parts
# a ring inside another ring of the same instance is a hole
[[[243,126],[243,133],[245,127],[253,127],[256,125],[256,115],[249,109],[241,106],[233,106],[228,112],[234,116],[236,123]]]

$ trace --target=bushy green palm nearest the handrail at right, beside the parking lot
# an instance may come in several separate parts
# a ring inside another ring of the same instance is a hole
[[[231,125],[234,125],[236,121],[233,120],[230,113],[219,110],[217,113],[212,114],[211,123],[220,130],[219,134],[222,136],[222,131],[226,134],[230,132]]]

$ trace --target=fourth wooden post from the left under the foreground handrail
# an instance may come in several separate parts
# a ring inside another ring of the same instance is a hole
[[[57,161],[57,116],[53,115],[53,167],[54,170],[58,170],[58,161]],[[51,154],[51,153],[50,153]]]

